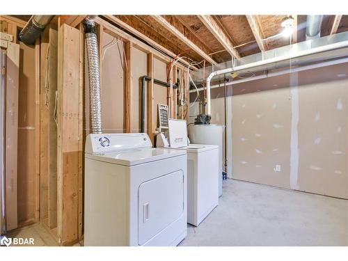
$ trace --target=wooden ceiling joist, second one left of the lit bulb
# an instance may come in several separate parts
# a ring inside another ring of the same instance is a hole
[[[216,40],[218,40],[223,48],[226,49],[226,51],[235,58],[240,58],[239,53],[237,50],[233,48],[232,41],[230,40],[230,37],[226,35],[226,33],[223,31],[221,26],[215,21],[214,17],[212,15],[198,15],[198,18],[201,22],[207,27],[207,29],[214,35]]]

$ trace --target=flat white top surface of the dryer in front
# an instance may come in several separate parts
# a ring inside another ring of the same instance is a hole
[[[185,155],[184,150],[173,150],[168,148],[136,148],[118,152],[105,152],[101,154],[85,154],[88,159],[109,162],[122,166],[134,166],[161,159]]]

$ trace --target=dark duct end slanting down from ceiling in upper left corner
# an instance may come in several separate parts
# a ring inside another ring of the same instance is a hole
[[[33,15],[19,33],[19,40],[26,45],[35,44],[35,40],[40,37],[41,33],[54,15]]]

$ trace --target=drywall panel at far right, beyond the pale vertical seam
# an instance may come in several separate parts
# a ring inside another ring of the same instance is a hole
[[[314,73],[299,74],[299,190],[348,198],[347,65]]]

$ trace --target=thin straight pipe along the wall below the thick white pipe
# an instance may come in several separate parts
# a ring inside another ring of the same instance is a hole
[[[232,84],[242,84],[242,83],[244,83],[246,81],[255,81],[255,80],[258,80],[258,79],[275,77],[275,76],[279,76],[279,75],[283,75],[283,74],[289,74],[289,73],[292,73],[292,72],[302,72],[302,71],[305,71],[305,70],[310,70],[310,69],[315,69],[315,68],[322,68],[322,67],[325,67],[325,66],[336,65],[336,64],[340,64],[340,63],[348,63],[348,58],[341,58],[341,59],[338,59],[338,60],[327,61],[327,62],[324,62],[324,63],[315,63],[315,64],[312,64],[312,65],[306,65],[306,66],[302,66],[302,67],[299,67],[299,68],[281,70],[281,71],[278,71],[278,72],[270,72],[270,73],[267,73],[267,74],[257,75],[255,77],[249,77],[247,79],[239,79],[239,80],[236,80],[236,81],[230,81],[230,82],[226,83],[226,86],[230,86]],[[210,86],[210,89],[219,88],[219,87],[222,87],[221,84],[215,84],[215,85]],[[198,88],[198,90],[203,90],[203,88]],[[196,93],[196,90],[190,90],[190,93]]]

